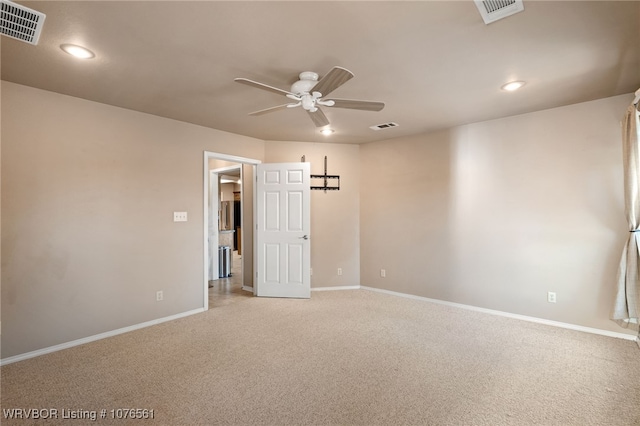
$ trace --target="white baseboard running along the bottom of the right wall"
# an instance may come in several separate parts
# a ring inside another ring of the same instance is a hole
[[[547,320],[547,319],[544,319],[544,318],[530,317],[530,316],[527,316],[527,315],[512,314],[510,312],[496,311],[496,310],[493,310],[493,309],[486,309],[486,308],[480,308],[480,307],[477,307],[477,306],[464,305],[462,303],[447,302],[446,300],[429,299],[428,297],[414,296],[413,294],[399,293],[397,291],[383,290],[383,289],[375,288],[375,287],[360,286],[360,288],[363,289],[363,290],[369,290],[369,291],[375,291],[375,292],[378,292],[378,293],[390,294],[392,296],[406,297],[408,299],[422,300],[424,302],[432,302],[432,303],[437,303],[439,305],[446,305],[446,306],[452,306],[452,307],[455,307],[455,308],[467,309],[467,310],[470,310],[470,311],[483,312],[485,314],[498,315],[498,316],[507,317],[507,318],[514,318],[514,319],[519,319],[519,320],[523,320],[523,321],[535,322],[535,323],[538,323],[538,324],[545,324],[545,325],[551,325],[551,326],[554,326],[554,327],[567,328],[569,330],[583,331],[585,333],[599,334],[601,336],[615,337],[617,339],[635,340],[636,342],[638,342],[638,345],[640,346],[640,340],[638,340],[638,338],[636,336],[631,335],[631,334],[617,333],[615,331],[608,331],[608,330],[600,330],[598,328],[584,327],[584,326],[581,326],[581,325],[569,324],[569,323],[566,323],[566,322],[552,321],[552,320]]]

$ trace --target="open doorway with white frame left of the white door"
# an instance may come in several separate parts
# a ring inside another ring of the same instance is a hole
[[[203,305],[209,309],[253,296],[253,180],[260,161],[212,152],[204,160]]]

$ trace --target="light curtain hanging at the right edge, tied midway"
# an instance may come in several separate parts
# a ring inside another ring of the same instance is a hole
[[[640,104],[630,105],[622,125],[625,214],[629,240],[622,251],[616,298],[611,319],[625,328],[638,330],[640,317]]]

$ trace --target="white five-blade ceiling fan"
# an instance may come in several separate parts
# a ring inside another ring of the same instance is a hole
[[[380,111],[384,108],[384,102],[325,98],[329,93],[333,92],[353,78],[353,73],[345,68],[333,67],[331,71],[329,71],[327,75],[322,77],[320,80],[318,80],[318,74],[312,71],[301,72],[299,77],[300,80],[293,83],[291,90],[289,91],[246,78],[236,78],[234,81],[248,86],[257,87],[258,89],[285,95],[287,98],[295,101],[284,105],[261,109],[260,111],[254,111],[249,113],[249,115],[262,115],[285,108],[301,106],[305,111],[307,111],[316,127],[323,127],[329,124],[329,120],[322,110],[318,108],[320,106],[359,109],[363,111]]]

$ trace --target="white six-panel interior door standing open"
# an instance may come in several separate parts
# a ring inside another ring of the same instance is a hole
[[[311,297],[309,174],[309,163],[257,165],[257,296]]]

